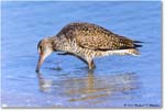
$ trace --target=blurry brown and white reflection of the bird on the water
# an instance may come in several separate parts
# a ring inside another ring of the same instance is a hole
[[[37,74],[40,88],[47,92],[53,88],[69,98],[69,101],[85,101],[94,99],[130,98],[131,91],[138,89],[138,77],[134,73],[95,75],[88,71],[86,77],[63,77],[59,80],[44,79]],[[58,86],[58,87],[53,87]]]

